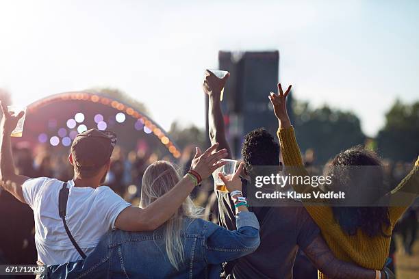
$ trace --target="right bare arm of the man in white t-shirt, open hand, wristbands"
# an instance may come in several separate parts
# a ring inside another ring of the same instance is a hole
[[[221,149],[212,154],[217,147],[218,144],[214,144],[203,152],[202,155],[199,148],[196,148],[196,155],[192,160],[191,170],[198,172],[203,179],[225,164],[225,162],[218,161],[227,156],[227,150]],[[175,214],[192,189],[194,189],[192,180],[187,176],[183,176],[173,189],[157,198],[155,202],[145,209],[138,207],[127,207],[124,209],[116,218],[115,227],[128,231],[155,230]]]

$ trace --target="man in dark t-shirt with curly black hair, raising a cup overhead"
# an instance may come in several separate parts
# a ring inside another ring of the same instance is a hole
[[[203,90],[209,97],[208,125],[211,142],[229,150],[225,137],[220,92],[229,74],[219,79],[207,71]],[[288,88],[290,90],[290,88]],[[244,136],[242,157],[246,176],[254,181],[253,167],[279,165],[279,144],[268,131],[256,129]],[[244,185],[243,185],[244,186]],[[243,191],[246,191],[243,187]],[[246,194],[245,194],[246,196]],[[292,267],[299,249],[303,250],[314,265],[330,278],[374,278],[374,271],[339,261],[322,239],[301,202],[288,201],[288,207],[253,207],[260,224],[260,245],[252,254],[227,263],[229,278],[293,278]]]

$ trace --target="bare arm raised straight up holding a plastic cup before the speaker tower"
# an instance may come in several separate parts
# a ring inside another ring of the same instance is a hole
[[[211,144],[218,142],[218,150],[227,149],[227,158],[231,159],[231,149],[225,137],[225,125],[223,112],[220,106],[221,90],[225,87],[225,83],[229,78],[228,73],[223,79],[219,79],[212,72],[205,72],[205,80],[203,82],[203,90],[208,95],[208,133]]]

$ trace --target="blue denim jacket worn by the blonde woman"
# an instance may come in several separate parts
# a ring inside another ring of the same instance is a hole
[[[186,219],[185,261],[176,270],[168,261],[162,228],[153,232],[107,233],[97,248],[80,260],[48,267],[43,278],[220,278],[221,263],[257,249],[259,223],[251,212],[236,217],[238,230],[202,219]]]

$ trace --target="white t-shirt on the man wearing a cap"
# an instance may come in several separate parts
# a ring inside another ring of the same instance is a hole
[[[47,177],[28,179],[22,185],[25,201],[34,210],[38,261],[45,265],[81,259],[58,213],[62,185],[62,181]],[[131,204],[107,186],[75,187],[74,181],[68,181],[67,188],[70,194],[66,223],[81,250],[88,255],[101,237],[112,230],[119,213]]]

